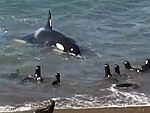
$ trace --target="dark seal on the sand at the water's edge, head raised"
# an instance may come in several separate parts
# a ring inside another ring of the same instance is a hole
[[[38,109],[33,113],[53,113],[54,107],[55,107],[55,101],[51,100],[50,105],[48,105],[46,108]]]

